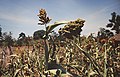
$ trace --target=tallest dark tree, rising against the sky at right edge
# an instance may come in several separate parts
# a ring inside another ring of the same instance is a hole
[[[106,27],[110,27],[111,30],[115,30],[116,34],[120,33],[120,15],[116,15],[115,12],[111,13],[112,19],[109,19],[109,24]]]

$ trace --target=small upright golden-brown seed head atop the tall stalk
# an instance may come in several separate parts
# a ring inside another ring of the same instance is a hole
[[[39,11],[38,17],[40,18],[39,21],[41,22],[41,23],[38,23],[40,25],[47,24],[51,21],[51,19],[49,17],[47,17],[47,12],[45,11],[45,9],[41,9]]]

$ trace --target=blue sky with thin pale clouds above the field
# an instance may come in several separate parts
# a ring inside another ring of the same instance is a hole
[[[105,27],[112,12],[120,15],[120,0],[0,0],[2,32],[12,32],[12,36],[18,38],[21,32],[32,36],[35,31],[44,29],[38,25],[41,8],[52,19],[49,24],[77,18],[85,20],[81,34],[89,35]],[[63,26],[55,31],[60,27]]]

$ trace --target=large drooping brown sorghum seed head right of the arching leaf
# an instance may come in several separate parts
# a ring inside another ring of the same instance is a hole
[[[73,37],[78,37],[82,31],[85,20],[77,19],[76,21],[70,21],[63,28],[59,29],[59,34],[65,36],[68,39],[73,39]]]

